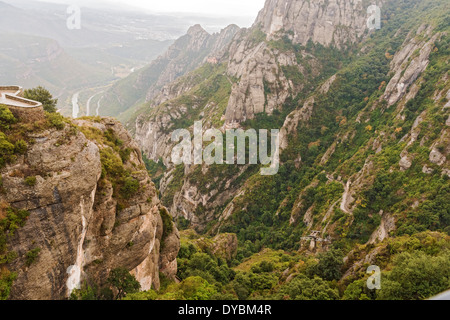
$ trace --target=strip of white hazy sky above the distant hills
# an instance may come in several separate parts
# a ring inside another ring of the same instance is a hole
[[[265,0],[35,0],[96,6],[107,3],[145,8],[152,12],[183,12],[256,18]]]

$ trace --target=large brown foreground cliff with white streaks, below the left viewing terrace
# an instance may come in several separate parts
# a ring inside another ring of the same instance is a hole
[[[139,188],[126,201],[102,172],[102,150],[110,149],[98,138],[104,134],[129,152],[123,168]],[[18,255],[8,266],[18,274],[11,299],[64,299],[85,281],[104,284],[118,267],[133,272],[143,290],[159,287],[159,271],[175,276],[178,231],[173,228],[161,249],[163,207],[137,144],[121,124],[77,120],[32,137],[26,154],[1,170],[6,193],[0,201],[30,212],[8,243]],[[24,183],[28,176],[36,177],[34,185]],[[35,248],[38,257],[26,264]]]

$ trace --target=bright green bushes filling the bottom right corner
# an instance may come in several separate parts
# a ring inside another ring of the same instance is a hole
[[[351,280],[344,291],[346,300],[421,300],[450,287],[449,237],[433,232],[401,236],[378,245],[376,264],[382,268],[381,290],[367,289],[364,272]],[[360,250],[370,249],[362,247]],[[361,252],[353,252],[361,255]],[[350,257],[352,259],[352,257]]]

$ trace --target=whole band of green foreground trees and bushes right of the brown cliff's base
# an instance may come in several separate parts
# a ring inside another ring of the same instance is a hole
[[[314,256],[264,249],[238,263],[230,263],[202,251],[186,234],[178,257],[178,277],[183,281],[200,277],[197,286],[206,290],[204,299],[276,300],[417,300],[427,299],[450,286],[449,237],[427,232],[388,239],[377,246],[357,247],[344,265],[339,243]],[[382,289],[369,290],[363,264],[349,278],[342,271],[377,250],[373,263],[383,270]],[[201,280],[202,279],[202,280]],[[182,285],[168,284],[152,299],[194,299]],[[211,292],[215,291],[215,294]]]

